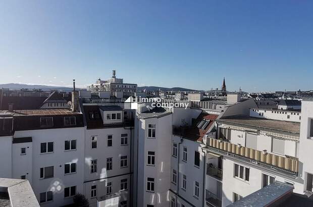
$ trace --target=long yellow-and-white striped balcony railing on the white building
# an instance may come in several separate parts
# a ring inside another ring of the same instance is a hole
[[[263,163],[270,167],[282,169],[296,175],[299,171],[299,161],[296,159],[278,156],[276,154],[259,151],[214,138],[207,138],[206,145],[257,163]]]

